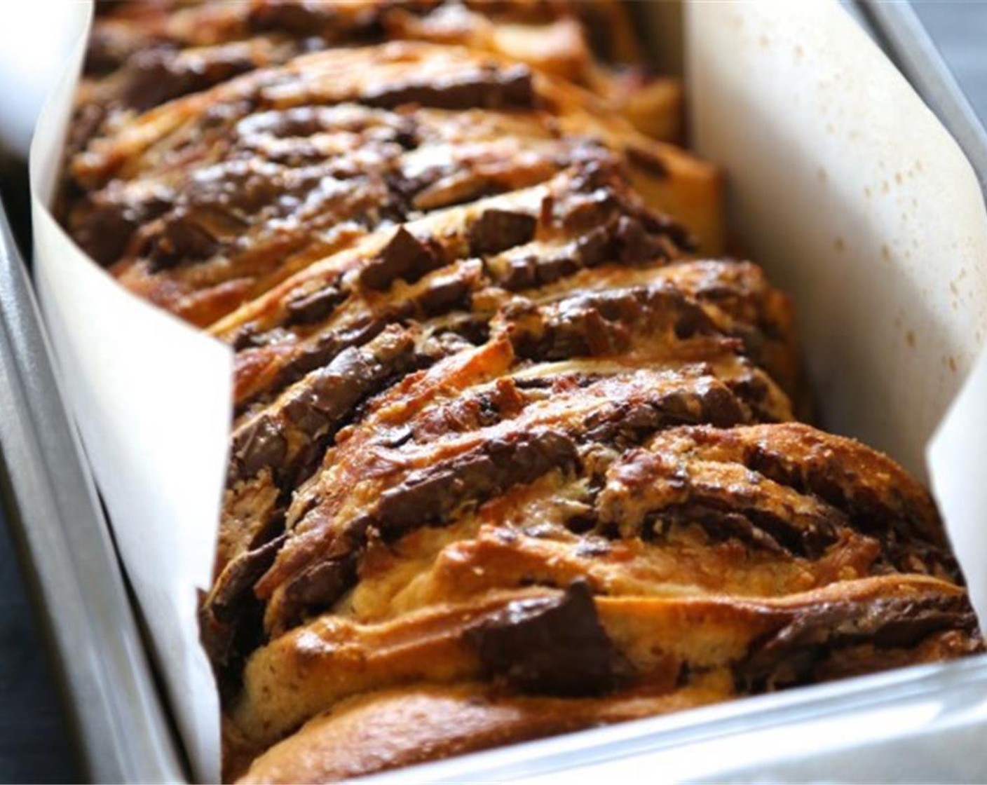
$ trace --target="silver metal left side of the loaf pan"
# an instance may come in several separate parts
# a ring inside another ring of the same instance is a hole
[[[186,775],[0,205],[0,501],[97,782]]]

